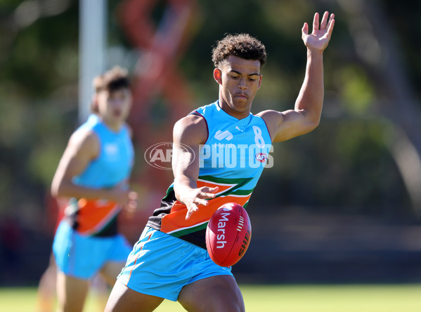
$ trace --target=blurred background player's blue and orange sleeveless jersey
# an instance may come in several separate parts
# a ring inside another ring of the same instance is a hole
[[[88,167],[73,178],[73,183],[87,188],[113,188],[128,181],[134,163],[134,148],[127,125],[112,131],[96,115],[77,129],[93,131],[98,136],[100,152]],[[121,207],[115,202],[72,199],[67,219],[72,227],[85,235],[110,236],[117,234],[117,214]]]

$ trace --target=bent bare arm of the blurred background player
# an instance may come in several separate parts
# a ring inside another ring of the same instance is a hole
[[[54,197],[105,198],[127,204],[130,192],[124,189],[127,181],[111,189],[85,188],[73,183],[72,179],[82,174],[89,163],[98,157],[99,148],[98,138],[92,131],[76,131],[72,134],[51,184]]]

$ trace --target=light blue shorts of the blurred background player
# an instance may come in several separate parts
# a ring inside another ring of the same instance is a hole
[[[131,245],[123,235],[80,235],[66,221],[60,222],[53,242],[60,271],[82,279],[92,278],[109,261],[124,263],[130,251]]]

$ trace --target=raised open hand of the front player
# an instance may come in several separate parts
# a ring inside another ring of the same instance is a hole
[[[302,28],[302,39],[304,44],[310,50],[323,51],[329,44],[330,36],[332,35],[333,26],[335,25],[335,14],[330,14],[326,11],[323,14],[322,22],[320,27],[318,25],[318,13],[314,14],[313,20],[313,32],[309,34],[309,25],[304,22]]]

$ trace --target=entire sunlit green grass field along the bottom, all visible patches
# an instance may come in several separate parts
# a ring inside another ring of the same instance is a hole
[[[421,285],[241,285],[247,312],[420,312]],[[36,288],[0,288],[0,311],[35,311]],[[85,312],[100,311],[90,296]],[[164,303],[157,312],[184,311]]]

